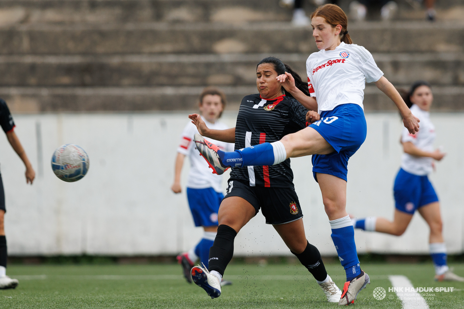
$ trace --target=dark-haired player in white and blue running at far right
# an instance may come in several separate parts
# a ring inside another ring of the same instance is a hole
[[[376,231],[396,236],[402,235],[412,215],[417,210],[430,227],[430,255],[435,265],[435,279],[438,281],[464,281],[449,270],[446,264],[446,245],[442,235],[440,203],[427,175],[432,172],[433,160],[440,161],[445,156],[439,149],[433,150],[435,127],[430,121],[430,106],[433,96],[430,85],[417,81],[411,86],[406,104],[414,116],[420,119],[420,129],[415,135],[406,128],[401,135],[404,154],[400,171],[393,186],[395,213],[393,222],[380,217],[352,219],[354,228]]]

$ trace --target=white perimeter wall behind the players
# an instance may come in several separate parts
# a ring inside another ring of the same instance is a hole
[[[200,238],[202,230],[193,226],[185,193],[170,191],[186,113],[13,116],[37,177],[32,187],[26,185],[22,162],[0,134],[10,255],[176,254]],[[235,116],[227,114],[222,121],[233,126]],[[448,155],[431,179],[442,202],[448,251],[459,253],[463,252],[464,114],[436,113],[432,121],[436,146],[443,145]],[[366,142],[349,161],[349,213],[393,218],[401,126],[396,113],[367,114]],[[53,150],[65,143],[83,147],[90,156],[89,173],[75,183],[56,178],[50,166]],[[184,184],[188,166],[186,161]],[[335,255],[310,157],[292,159],[292,167],[309,242],[323,255]],[[356,231],[355,239],[358,252],[428,252],[428,227],[417,213],[401,237]],[[289,253],[261,213],[235,241],[237,256]]]

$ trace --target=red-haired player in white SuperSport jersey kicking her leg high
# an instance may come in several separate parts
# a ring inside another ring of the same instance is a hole
[[[320,49],[306,62],[311,97],[295,87],[290,73],[277,77],[285,90],[310,110],[307,119],[314,123],[308,128],[286,135],[278,142],[231,153],[199,147],[205,157],[220,159],[210,161],[218,169],[229,166],[227,162],[232,161],[235,166],[272,166],[290,157],[313,155],[313,175],[321,188],[331,236],[347,275],[340,305],[353,303],[359,291],[370,282],[360,268],[353,225],[345,210],[348,159],[366,138],[362,105],[365,82],[375,82],[393,100],[409,133],[419,130],[419,119],[383,77],[372,55],[364,47],[352,44],[347,24],[346,14],[336,5],[319,6],[311,15],[313,37]]]

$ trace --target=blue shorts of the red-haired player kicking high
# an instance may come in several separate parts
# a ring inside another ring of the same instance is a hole
[[[329,155],[313,155],[313,176],[330,174],[347,181],[348,160],[366,140],[367,124],[358,104],[342,104],[324,110],[321,119],[310,125],[335,149]]]

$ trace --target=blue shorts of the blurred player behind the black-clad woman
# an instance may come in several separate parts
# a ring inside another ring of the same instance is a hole
[[[219,205],[224,198],[220,192],[213,188],[193,189],[187,188],[187,200],[192,212],[195,226],[218,225]]]

